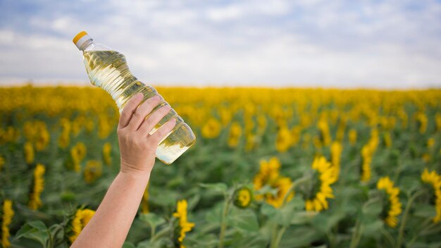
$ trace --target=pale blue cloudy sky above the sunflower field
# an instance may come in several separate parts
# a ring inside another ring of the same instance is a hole
[[[149,85],[441,87],[439,0],[0,0],[0,86],[90,85],[82,30]]]

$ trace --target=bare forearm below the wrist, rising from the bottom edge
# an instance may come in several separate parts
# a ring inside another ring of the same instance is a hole
[[[72,247],[122,247],[149,177],[119,173]]]

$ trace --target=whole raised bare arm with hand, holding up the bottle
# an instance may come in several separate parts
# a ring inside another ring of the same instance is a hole
[[[172,118],[153,135],[149,135],[159,120],[170,111],[170,106],[163,106],[144,120],[160,100],[156,96],[139,105],[142,94],[137,94],[123,109],[118,123],[120,173],[108,188],[97,212],[71,247],[123,246],[149,182],[158,143],[175,126],[175,118]]]

